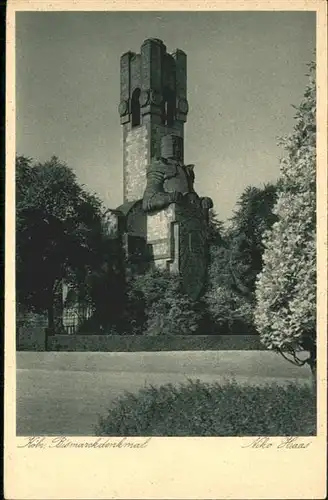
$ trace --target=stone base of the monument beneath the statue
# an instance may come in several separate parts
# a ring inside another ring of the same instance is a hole
[[[145,213],[142,200],[115,211],[124,217],[122,241],[130,270],[144,272],[155,266],[182,277],[186,294],[196,300],[205,284],[208,262],[207,210],[194,193],[183,203],[172,203]],[[114,214],[115,215],[115,214]]]

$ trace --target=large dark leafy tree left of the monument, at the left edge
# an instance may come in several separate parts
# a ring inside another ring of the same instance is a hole
[[[16,158],[17,300],[46,311],[50,329],[62,280],[76,283],[92,266],[100,233],[101,203],[65,163]]]

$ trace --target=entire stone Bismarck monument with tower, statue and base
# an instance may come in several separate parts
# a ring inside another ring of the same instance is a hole
[[[107,212],[108,225],[122,239],[128,272],[156,266],[180,273],[197,299],[212,200],[197,195],[194,165],[184,163],[187,56],[151,38],[139,54],[122,55],[120,77],[124,203]]]

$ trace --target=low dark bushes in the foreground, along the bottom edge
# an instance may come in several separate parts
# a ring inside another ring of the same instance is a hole
[[[311,386],[207,384],[149,386],[126,393],[100,418],[99,436],[311,436]]]

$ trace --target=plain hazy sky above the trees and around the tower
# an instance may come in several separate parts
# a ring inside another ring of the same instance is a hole
[[[314,12],[19,12],[16,151],[52,155],[107,208],[123,201],[120,56],[146,38],[187,53],[185,161],[221,220],[279,176],[315,51]]]

